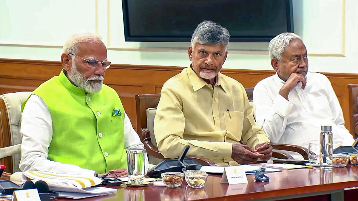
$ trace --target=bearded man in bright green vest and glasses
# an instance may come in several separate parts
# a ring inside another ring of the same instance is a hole
[[[117,92],[102,83],[111,65],[105,44],[97,35],[72,35],[61,63],[60,74],[21,107],[20,170],[126,176],[125,149],[144,146]]]

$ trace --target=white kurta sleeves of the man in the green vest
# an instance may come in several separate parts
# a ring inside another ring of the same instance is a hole
[[[46,103],[37,95],[31,95],[26,102],[21,117],[20,133],[22,136],[19,166],[21,171],[39,170],[81,175],[95,174],[93,170],[47,159],[48,147],[52,140],[52,119]],[[124,118],[124,138],[125,149],[144,148],[126,113]],[[113,142],[113,146],[116,146],[115,142]],[[146,167],[149,167],[147,157]]]

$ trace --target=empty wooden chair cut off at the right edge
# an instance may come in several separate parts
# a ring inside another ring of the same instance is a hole
[[[353,134],[354,138],[358,136],[358,84],[348,84],[349,95],[349,132]]]

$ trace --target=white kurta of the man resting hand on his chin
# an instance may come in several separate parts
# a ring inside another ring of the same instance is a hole
[[[272,143],[308,148],[310,142],[319,142],[321,126],[330,125],[334,148],[352,145],[354,139],[344,126],[342,108],[329,79],[311,72],[306,79],[305,89],[299,83],[290,91],[289,101],[279,95],[285,82],[277,73],[258,82],[253,90],[256,122]]]

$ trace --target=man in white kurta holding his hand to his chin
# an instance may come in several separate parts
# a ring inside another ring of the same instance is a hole
[[[332,85],[325,75],[308,72],[301,38],[294,33],[277,35],[270,41],[269,53],[276,74],[257,83],[253,100],[256,121],[271,142],[308,148],[310,142],[318,142],[321,125],[330,125],[333,147],[351,146],[354,140],[344,127]]]

